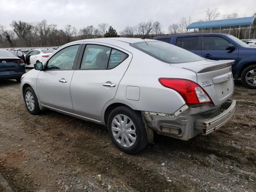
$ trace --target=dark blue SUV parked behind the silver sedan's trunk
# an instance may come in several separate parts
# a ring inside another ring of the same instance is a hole
[[[244,86],[256,89],[256,48],[229,34],[181,34],[155,37],[211,60],[235,60],[232,73]]]

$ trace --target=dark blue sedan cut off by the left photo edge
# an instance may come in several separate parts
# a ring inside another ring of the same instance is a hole
[[[26,73],[24,61],[10,51],[0,50],[0,79],[16,79]]]

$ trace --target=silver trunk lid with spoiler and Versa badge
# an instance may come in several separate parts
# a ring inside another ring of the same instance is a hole
[[[231,72],[234,60],[205,60],[171,64],[171,66],[193,71],[197,75],[197,83],[210,96],[214,105],[222,104],[234,92],[234,80]]]

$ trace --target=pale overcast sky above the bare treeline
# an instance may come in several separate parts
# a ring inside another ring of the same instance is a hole
[[[0,0],[0,25],[10,28],[12,20],[37,22],[43,19],[58,28],[70,24],[77,29],[106,22],[117,32],[125,26],[152,19],[159,21],[162,30],[191,16],[192,22],[205,19],[207,7],[218,8],[224,14],[252,16],[256,0]]]

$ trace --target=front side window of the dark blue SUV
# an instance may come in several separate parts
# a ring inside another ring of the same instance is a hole
[[[205,36],[204,50],[226,50],[227,45],[231,43],[221,37]]]

